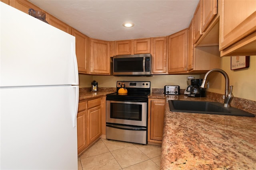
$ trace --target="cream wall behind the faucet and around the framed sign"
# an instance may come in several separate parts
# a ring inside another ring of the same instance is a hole
[[[221,57],[221,69],[224,70],[233,85],[233,95],[238,98],[244,98],[256,101],[256,56],[250,56],[249,68],[240,70],[230,69],[230,57]],[[204,75],[200,77],[203,78]],[[219,72],[212,72],[208,78],[209,92],[219,94],[225,93],[225,79]]]

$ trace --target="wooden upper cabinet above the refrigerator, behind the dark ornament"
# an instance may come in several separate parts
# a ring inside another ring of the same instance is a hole
[[[10,0],[9,5],[28,14],[29,8],[36,11],[42,11],[38,6],[32,4],[27,0]]]

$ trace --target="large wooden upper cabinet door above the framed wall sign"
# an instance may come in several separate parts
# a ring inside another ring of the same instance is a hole
[[[255,0],[221,0],[220,47],[225,49],[256,31]]]

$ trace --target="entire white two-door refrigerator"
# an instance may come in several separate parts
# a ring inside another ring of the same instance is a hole
[[[0,2],[0,169],[78,168],[75,37]]]

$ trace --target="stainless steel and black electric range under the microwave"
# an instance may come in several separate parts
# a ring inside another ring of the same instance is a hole
[[[118,94],[122,84],[127,94]],[[116,93],[106,97],[106,139],[147,143],[149,94],[150,82],[116,82]]]

